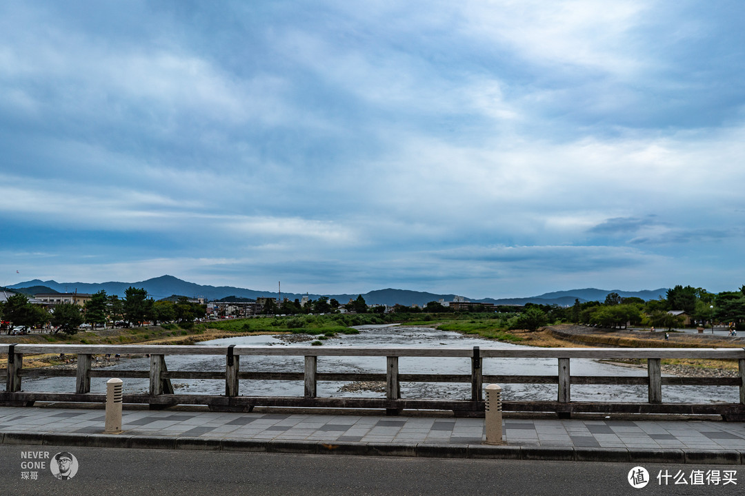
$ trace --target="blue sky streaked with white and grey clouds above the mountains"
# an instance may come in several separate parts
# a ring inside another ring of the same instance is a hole
[[[745,283],[745,5],[0,1],[0,285]]]

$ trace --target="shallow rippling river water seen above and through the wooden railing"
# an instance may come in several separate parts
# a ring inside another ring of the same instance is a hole
[[[469,348],[525,348],[523,346],[488,341],[457,332],[440,331],[428,327],[360,326],[358,335],[339,335],[324,344],[334,347],[454,347]],[[226,346],[305,347],[309,341],[287,344],[271,335],[243,336],[205,341],[201,344]],[[166,356],[168,370],[224,370],[223,355],[172,355]],[[247,357],[241,356],[241,370],[260,372],[302,372],[302,357]],[[324,357],[318,358],[318,372],[384,373],[385,357]],[[105,370],[149,370],[150,358],[132,358],[121,361]],[[99,369],[104,370],[104,369]],[[470,374],[469,358],[407,358],[399,359],[399,373],[448,373]],[[577,376],[646,376],[646,370],[600,363],[596,360],[576,358],[571,360],[571,373]],[[484,358],[484,374],[556,376],[555,358]],[[91,380],[92,393],[105,393],[104,378]],[[179,394],[224,394],[221,380],[174,379],[174,389]],[[384,393],[356,391],[340,392],[343,382],[320,381],[318,396],[384,397]],[[147,393],[148,379],[124,379],[125,393]],[[556,384],[502,384],[505,400],[555,400]],[[240,393],[246,396],[302,396],[302,381],[241,381]],[[75,378],[25,379],[25,391],[72,393]],[[468,399],[470,384],[402,383],[402,398],[409,399]],[[573,401],[595,402],[646,402],[647,387],[640,386],[572,386]],[[739,402],[737,387],[725,386],[663,386],[664,402]]]

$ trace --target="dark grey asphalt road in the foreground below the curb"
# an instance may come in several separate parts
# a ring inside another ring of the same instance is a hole
[[[39,451],[41,458],[34,459],[34,452]],[[44,451],[48,451],[48,459]],[[57,480],[49,469],[50,463],[56,467],[52,457],[60,451],[69,451],[77,460],[77,474],[70,480]],[[29,462],[45,466],[22,468]],[[741,493],[745,486],[745,468],[741,466],[643,466],[650,473],[650,482],[635,489],[627,480],[634,467],[630,463],[0,445],[0,494],[730,495]],[[657,480],[660,471],[671,476],[667,486]],[[688,484],[675,484],[679,471]],[[707,473],[716,476],[708,471],[719,471],[720,483],[715,486],[704,479],[703,485],[691,485],[693,471],[701,471],[702,477]],[[735,471],[736,485],[723,484],[724,471]],[[22,478],[25,472],[28,479]]]

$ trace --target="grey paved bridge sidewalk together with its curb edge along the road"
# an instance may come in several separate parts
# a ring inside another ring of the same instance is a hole
[[[505,446],[485,445],[484,419],[314,413],[124,410],[104,435],[104,410],[0,407],[5,444],[105,445],[545,460],[744,463],[745,423],[504,419]]]

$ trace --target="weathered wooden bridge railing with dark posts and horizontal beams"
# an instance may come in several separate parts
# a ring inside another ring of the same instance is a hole
[[[149,379],[147,394],[124,394],[125,403],[143,403],[150,408],[171,405],[209,405],[213,410],[250,411],[254,406],[326,407],[326,408],[382,408],[388,413],[403,409],[453,410],[457,415],[484,414],[484,384],[557,384],[556,401],[503,402],[507,411],[551,411],[561,417],[571,413],[711,413],[725,419],[745,419],[745,350],[691,348],[362,348],[362,347],[247,347],[235,346],[112,346],[16,344],[0,345],[0,353],[7,353],[7,381],[0,393],[0,404],[31,405],[43,402],[104,402],[104,394],[90,393],[92,378]],[[29,354],[64,353],[77,355],[77,370],[24,369],[23,357]],[[150,355],[150,370],[111,370],[92,368],[92,355]],[[168,370],[168,355],[223,355],[224,370],[185,371]],[[241,356],[302,356],[304,369],[298,372],[259,372],[241,370]],[[386,357],[384,373],[319,373],[318,357],[380,356]],[[399,360],[409,357],[463,358],[470,362],[469,374],[399,373]],[[557,374],[551,376],[486,375],[484,360],[510,358],[555,358]],[[616,359],[636,358],[647,361],[645,376],[572,376],[571,360],[576,358]],[[738,361],[738,376],[733,378],[663,377],[660,361],[663,358],[701,358]],[[31,393],[22,390],[22,379],[39,377],[75,377],[75,393]],[[174,394],[171,379],[216,379],[225,382],[224,395]],[[241,381],[278,380],[303,381],[303,396],[248,396],[241,394]],[[318,397],[319,381],[384,381],[385,398]],[[405,399],[400,393],[402,382],[470,383],[469,399]],[[646,385],[647,402],[572,402],[571,386],[585,384]],[[738,387],[738,403],[664,403],[663,385],[730,386]]]

